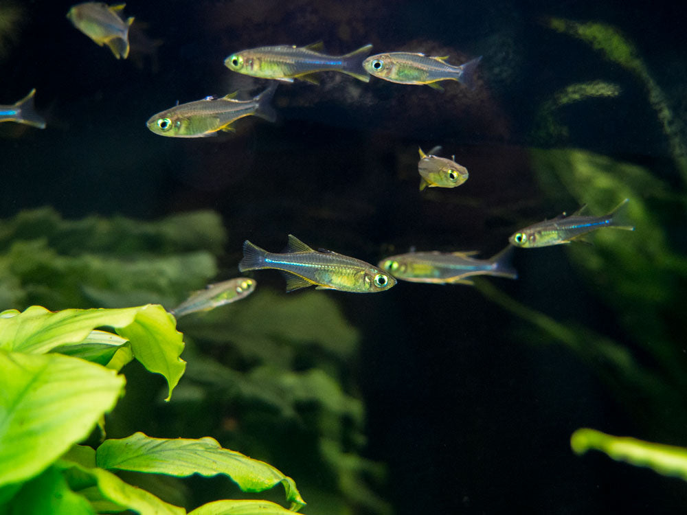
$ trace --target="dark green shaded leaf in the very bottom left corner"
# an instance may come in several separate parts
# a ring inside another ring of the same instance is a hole
[[[9,515],[95,515],[91,503],[72,492],[55,467],[24,483],[5,509]]]

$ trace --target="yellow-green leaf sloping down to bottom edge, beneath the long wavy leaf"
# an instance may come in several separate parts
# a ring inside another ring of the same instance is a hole
[[[168,504],[142,488],[125,483],[102,470],[60,460],[56,466],[65,471],[69,488],[87,496],[99,512],[133,510],[144,515],[184,515],[181,507]]]

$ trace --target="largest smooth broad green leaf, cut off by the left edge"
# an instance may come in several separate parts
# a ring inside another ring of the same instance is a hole
[[[0,350],[0,485],[44,470],[115,406],[124,377],[69,356]]]

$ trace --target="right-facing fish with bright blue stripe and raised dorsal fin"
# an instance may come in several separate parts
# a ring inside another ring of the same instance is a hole
[[[392,275],[370,263],[324,249],[315,251],[293,234],[289,234],[284,253],[267,252],[248,240],[243,243],[243,260],[238,269],[245,272],[263,268],[282,271],[287,292],[314,285],[317,290],[376,293],[396,284]]]

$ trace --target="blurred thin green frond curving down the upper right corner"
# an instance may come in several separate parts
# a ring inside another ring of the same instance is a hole
[[[591,45],[598,52],[602,52],[606,59],[631,71],[644,84],[649,104],[656,111],[668,137],[675,167],[682,174],[684,183],[687,183],[687,129],[682,120],[673,113],[671,102],[654,80],[634,43],[616,27],[604,23],[578,23],[552,17],[545,19],[545,24],[556,32],[578,38]]]

